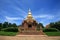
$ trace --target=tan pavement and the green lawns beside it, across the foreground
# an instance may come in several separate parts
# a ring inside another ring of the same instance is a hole
[[[48,36],[42,35],[42,32],[40,35],[20,35],[15,32],[1,31],[0,40],[60,40],[60,32],[45,32],[45,33]]]

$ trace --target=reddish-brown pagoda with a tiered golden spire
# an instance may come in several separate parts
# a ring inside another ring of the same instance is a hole
[[[37,28],[37,21],[33,18],[31,10],[29,9],[27,17],[23,20],[21,27],[19,27],[20,34],[40,34],[38,33]]]

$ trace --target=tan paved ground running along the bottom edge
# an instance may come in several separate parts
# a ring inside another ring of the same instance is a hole
[[[0,40],[60,40],[60,36],[47,36],[47,35],[0,36]]]

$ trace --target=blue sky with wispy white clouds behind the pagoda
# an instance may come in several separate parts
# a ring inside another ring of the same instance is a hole
[[[29,8],[34,19],[44,26],[60,20],[60,0],[0,0],[0,23],[21,24]]]

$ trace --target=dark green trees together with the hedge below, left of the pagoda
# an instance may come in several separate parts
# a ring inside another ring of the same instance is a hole
[[[17,32],[18,26],[15,23],[0,23],[0,31]]]

